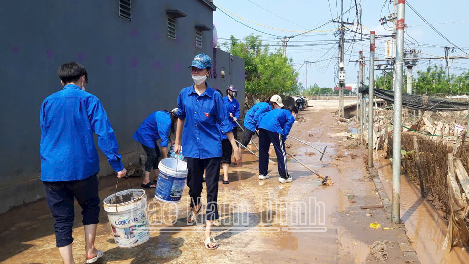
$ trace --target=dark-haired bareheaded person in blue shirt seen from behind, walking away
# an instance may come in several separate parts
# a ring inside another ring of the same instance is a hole
[[[82,207],[85,228],[86,260],[93,263],[103,256],[94,246],[99,222],[98,146],[107,156],[117,177],[127,171],[122,165],[119,146],[96,96],[85,92],[88,73],[79,63],[65,63],[57,71],[63,89],[47,97],[40,110],[41,181],[45,185],[47,204],[54,217],[56,246],[65,264],[74,264],[72,226],[75,218],[74,198]]]

